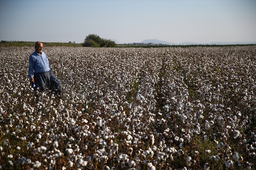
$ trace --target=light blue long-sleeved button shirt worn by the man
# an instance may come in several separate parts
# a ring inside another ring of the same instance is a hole
[[[34,51],[29,56],[29,67],[28,67],[28,76],[29,78],[33,78],[33,74],[35,73],[45,73],[50,71],[49,61],[44,52],[42,55],[38,54]]]

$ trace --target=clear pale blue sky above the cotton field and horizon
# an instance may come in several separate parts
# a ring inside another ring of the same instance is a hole
[[[256,42],[256,0],[0,0],[0,40]]]

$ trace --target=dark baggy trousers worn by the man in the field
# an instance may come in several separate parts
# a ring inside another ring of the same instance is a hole
[[[55,88],[59,96],[62,96],[60,81],[51,73],[51,70],[46,73],[34,73],[34,83],[36,85],[36,87],[34,87],[36,97],[38,97],[36,93],[37,88],[39,88],[40,92],[45,92],[46,87],[52,92],[55,92]]]

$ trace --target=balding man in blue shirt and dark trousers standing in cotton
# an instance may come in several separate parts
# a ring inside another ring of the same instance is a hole
[[[43,52],[43,43],[40,41],[35,43],[35,51],[29,56],[28,76],[37,98],[37,88],[40,92],[45,92],[46,86],[52,91],[55,88],[59,98],[62,98],[60,81],[51,73],[48,58]]]

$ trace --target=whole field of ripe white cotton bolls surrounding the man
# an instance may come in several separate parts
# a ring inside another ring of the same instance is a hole
[[[0,47],[0,169],[255,169],[256,46]]]

